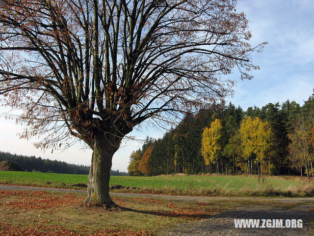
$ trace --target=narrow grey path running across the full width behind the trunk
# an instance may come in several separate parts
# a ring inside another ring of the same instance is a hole
[[[49,191],[49,192],[86,193],[86,190],[79,190],[79,189],[31,187],[31,186],[17,186],[17,185],[6,185],[6,184],[0,184],[0,190],[33,190],[33,191]],[[314,203],[314,198],[198,197],[198,196],[171,196],[171,195],[140,194],[140,193],[117,193],[117,192],[110,192],[110,195],[116,196],[116,197],[157,198],[157,199],[168,199],[168,200],[175,200],[175,201],[197,201],[197,202],[209,202],[211,200],[226,200],[226,201],[262,200],[262,201],[270,201],[270,202],[275,201],[275,202],[281,202],[281,203],[300,203],[300,202]]]

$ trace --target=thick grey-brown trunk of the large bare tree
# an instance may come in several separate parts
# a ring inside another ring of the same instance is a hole
[[[105,139],[94,141],[92,162],[88,175],[86,203],[108,207],[115,205],[109,196],[109,180],[112,156],[118,148],[119,144],[114,145]]]

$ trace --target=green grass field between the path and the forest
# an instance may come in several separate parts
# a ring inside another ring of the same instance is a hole
[[[47,184],[47,182],[52,182]],[[0,172],[0,183],[70,187],[87,175]],[[110,185],[140,187],[142,192],[205,196],[314,196],[314,181],[299,177],[257,176],[111,176]],[[123,191],[123,190],[122,190]]]

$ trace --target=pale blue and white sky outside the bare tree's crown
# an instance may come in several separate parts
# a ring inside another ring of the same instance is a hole
[[[287,99],[303,104],[314,89],[314,4],[313,0],[239,0],[237,12],[245,12],[253,37],[251,45],[268,42],[262,53],[254,53],[254,64],[261,67],[253,71],[254,78],[241,81],[238,73],[230,75],[237,81],[233,97],[227,101],[244,110],[251,106]],[[1,112],[5,111],[3,108]],[[0,150],[11,153],[35,155],[51,160],[90,165],[92,151],[76,144],[67,150],[40,150],[33,147],[36,139],[21,140],[18,133],[23,127],[14,120],[0,117]],[[143,140],[146,136],[162,137],[165,130],[142,126],[130,136]],[[112,160],[112,169],[127,171],[129,157],[142,143],[124,140]]]

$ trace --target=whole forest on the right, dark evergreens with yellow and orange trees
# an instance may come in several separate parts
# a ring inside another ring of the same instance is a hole
[[[131,153],[132,176],[300,175],[314,178],[314,94],[244,111],[232,103],[187,114]]]

